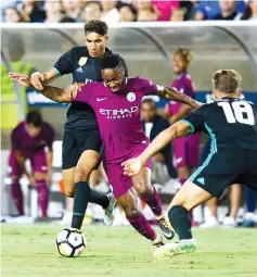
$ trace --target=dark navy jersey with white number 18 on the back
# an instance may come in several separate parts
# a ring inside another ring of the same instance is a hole
[[[234,98],[204,104],[184,119],[192,133],[207,131],[211,151],[229,149],[257,150],[257,105]]]

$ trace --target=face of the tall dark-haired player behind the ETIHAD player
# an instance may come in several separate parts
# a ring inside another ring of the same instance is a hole
[[[89,55],[94,59],[101,59],[105,53],[107,41],[107,36],[101,36],[97,33],[87,33],[86,46],[88,48]]]

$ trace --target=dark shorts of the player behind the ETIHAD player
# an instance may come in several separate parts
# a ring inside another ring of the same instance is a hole
[[[76,130],[65,128],[63,136],[62,168],[68,169],[75,167],[80,155],[86,150],[93,150],[101,154],[102,140],[99,129]]]

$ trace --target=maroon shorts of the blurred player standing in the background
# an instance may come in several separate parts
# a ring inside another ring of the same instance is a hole
[[[198,166],[200,134],[193,134],[190,137],[178,138],[174,140],[174,153],[176,167],[183,165],[190,167]]]

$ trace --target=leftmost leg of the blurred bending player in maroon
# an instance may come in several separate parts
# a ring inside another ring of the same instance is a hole
[[[11,169],[10,177],[12,179],[11,194],[12,194],[14,204],[17,209],[18,215],[24,215],[23,191],[20,185],[20,178],[23,174],[23,171],[21,166],[18,165],[13,151],[11,151],[9,156],[9,167]]]

